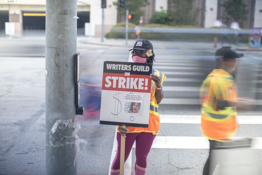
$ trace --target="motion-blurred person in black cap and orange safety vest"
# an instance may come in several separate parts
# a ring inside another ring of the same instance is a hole
[[[206,77],[200,89],[201,128],[210,143],[209,156],[203,175],[213,174],[210,167],[211,150],[215,141],[230,140],[238,128],[236,108],[250,109],[255,103],[250,98],[237,98],[237,89],[232,74],[238,64],[236,58],[243,54],[236,53],[233,47],[225,46],[215,53],[216,68]]]

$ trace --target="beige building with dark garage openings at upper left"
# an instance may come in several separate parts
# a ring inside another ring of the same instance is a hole
[[[109,32],[117,22],[114,0],[107,0],[104,9],[104,32]],[[15,35],[23,30],[45,29],[46,0],[0,0],[0,29],[5,22],[15,23]],[[77,1],[77,27],[84,28],[85,22],[95,24],[95,36],[101,35],[102,8],[99,0]]]

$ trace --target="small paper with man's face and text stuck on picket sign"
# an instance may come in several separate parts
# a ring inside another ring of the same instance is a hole
[[[143,95],[125,94],[124,97],[124,113],[139,114]]]

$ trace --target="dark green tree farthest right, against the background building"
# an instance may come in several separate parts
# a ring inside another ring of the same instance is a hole
[[[232,17],[233,21],[239,22],[240,27],[243,27],[243,21],[247,19],[246,15],[248,14],[246,10],[247,5],[243,0],[228,0],[220,6],[225,8],[225,12],[229,17]],[[223,17],[227,25],[231,22],[228,16]]]

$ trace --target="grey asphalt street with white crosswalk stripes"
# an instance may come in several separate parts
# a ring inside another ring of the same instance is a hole
[[[0,174],[45,174],[45,41],[43,37],[1,40],[4,42],[0,42]],[[201,81],[212,70],[215,50],[212,47],[200,49],[201,43],[199,45],[197,48],[169,45],[167,49],[155,49],[154,66],[165,73],[167,79],[163,85],[165,98],[159,106],[160,122],[163,122],[148,155],[147,174],[202,173],[208,149],[202,140],[198,120],[192,122],[195,120],[191,118],[200,116],[199,105],[193,102],[198,100],[197,89]],[[77,46],[82,88],[80,104],[85,106],[94,101],[94,97],[83,87],[95,87],[99,91],[103,62],[128,61],[129,49],[80,42]],[[246,58],[262,56],[258,52],[246,54]],[[236,137],[262,137],[261,119],[254,118],[261,116],[261,111],[258,106],[255,110],[238,113],[243,120]],[[99,110],[91,109],[87,115],[78,116],[78,122],[81,125],[78,131],[78,174],[108,174],[114,155],[115,126],[99,125]],[[261,145],[260,149],[255,149],[259,156],[256,166],[259,172],[262,172]],[[135,148],[128,162],[132,171]]]

